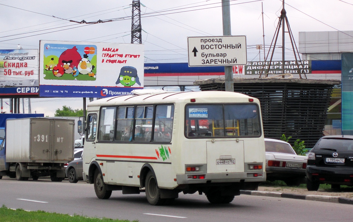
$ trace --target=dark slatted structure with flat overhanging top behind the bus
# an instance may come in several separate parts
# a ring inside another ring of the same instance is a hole
[[[282,134],[305,141],[312,148],[323,136],[332,89],[339,80],[242,79],[234,78],[234,92],[258,98],[264,136],[279,139]],[[224,79],[197,80],[202,91],[225,91]]]

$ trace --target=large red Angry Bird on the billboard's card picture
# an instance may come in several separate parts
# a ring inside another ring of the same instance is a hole
[[[78,53],[76,46],[74,46],[72,49],[66,49],[61,53],[58,65],[64,68],[65,73],[72,73],[73,67],[78,67],[81,59],[81,55]]]

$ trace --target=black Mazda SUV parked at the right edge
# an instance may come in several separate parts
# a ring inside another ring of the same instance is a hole
[[[306,166],[306,188],[317,191],[320,184],[353,186],[353,136],[324,136],[312,148]]]

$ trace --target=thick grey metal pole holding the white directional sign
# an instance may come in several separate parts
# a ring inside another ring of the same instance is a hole
[[[222,22],[223,36],[231,36],[231,6],[229,0],[222,0]],[[224,67],[226,81],[226,91],[234,92],[233,69],[232,66]]]

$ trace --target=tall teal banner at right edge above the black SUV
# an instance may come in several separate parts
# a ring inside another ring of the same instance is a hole
[[[342,133],[353,135],[353,53],[342,53]]]

